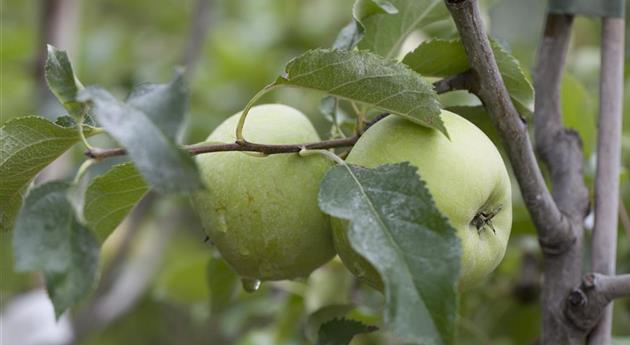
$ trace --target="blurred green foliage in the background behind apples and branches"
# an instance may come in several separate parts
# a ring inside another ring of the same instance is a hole
[[[42,107],[35,70],[43,42],[43,1],[8,1],[1,13],[2,119],[27,115],[59,115]],[[264,85],[282,72],[292,57],[328,47],[351,19],[353,0],[211,0],[208,37],[190,79],[191,99],[185,142],[205,139],[224,118],[240,111]],[[493,35],[531,70],[541,32],[545,1],[485,1]],[[99,84],[124,98],[144,82],[165,82],[181,64],[194,0],[78,1],[78,30],[68,49],[79,78]],[[523,14],[526,15],[523,15]],[[565,121],[584,139],[586,180],[594,177],[595,116],[598,100],[600,24],[578,18],[562,90]],[[627,35],[630,36],[630,35]],[[628,54],[626,54],[628,55]],[[630,63],[626,64],[630,66]],[[630,69],[627,69],[630,71]],[[630,73],[624,96],[624,168],[630,166]],[[318,112],[321,95],[281,89],[261,102],[277,101],[309,114],[327,136],[329,125]],[[443,97],[446,106],[476,105],[467,95]],[[483,112],[467,115],[492,134]],[[71,158],[78,164],[80,150]],[[628,172],[626,172],[626,175]],[[622,201],[630,208],[630,179],[622,180]],[[486,284],[461,300],[459,344],[530,344],[539,330],[538,282],[541,257],[534,228],[519,200],[516,183],[513,237],[505,260]],[[156,221],[164,209],[177,220]],[[157,218],[156,218],[157,217]],[[339,261],[317,270],[307,281],[263,284],[253,294],[204,243],[204,234],[186,200],[160,202],[144,213],[140,235],[172,226],[162,264],[142,298],[108,327],[83,338],[81,344],[308,344],[308,315],[327,305],[355,304],[352,318],[380,326],[383,298],[359,285]],[[176,225],[173,225],[176,224]],[[136,224],[138,226],[138,224]],[[103,271],[124,243],[124,226],[105,245]],[[133,246],[137,246],[134,243]],[[630,272],[630,229],[620,223],[618,271]],[[141,255],[131,250],[129,256]],[[585,262],[588,261],[585,258]],[[37,277],[11,273],[10,234],[0,234],[0,295],[16,296],[38,284]],[[533,277],[528,270],[534,272]],[[344,309],[345,310],[345,309]],[[51,316],[52,317],[52,316]],[[616,303],[614,333],[630,336],[630,302]],[[383,332],[361,335],[359,344],[398,344]]]

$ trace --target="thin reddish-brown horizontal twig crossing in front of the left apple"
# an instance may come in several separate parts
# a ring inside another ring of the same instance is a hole
[[[278,154],[278,153],[297,153],[302,149],[307,150],[321,150],[321,149],[331,149],[338,147],[347,147],[354,145],[359,137],[373,124],[385,118],[389,113],[383,113],[375,117],[373,120],[367,122],[365,124],[364,130],[361,133],[357,133],[352,137],[342,138],[342,139],[333,139],[333,140],[324,140],[320,142],[314,143],[305,143],[305,144],[286,144],[286,145],[268,145],[268,144],[258,144],[258,143],[250,143],[248,141],[244,142],[234,142],[234,143],[225,143],[225,144],[195,144],[195,145],[187,145],[184,146],[183,149],[188,151],[191,155],[198,155],[202,153],[210,153],[210,152],[225,152],[225,151],[246,151],[246,152],[260,152],[266,155]],[[113,149],[91,149],[85,152],[85,155],[92,159],[105,159],[114,156],[122,156],[127,154],[127,151],[124,148],[113,148]]]

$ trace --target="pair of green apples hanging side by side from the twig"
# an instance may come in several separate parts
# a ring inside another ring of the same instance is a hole
[[[233,142],[239,114],[208,141]],[[437,208],[461,239],[460,289],[476,285],[499,264],[512,223],[510,180],[499,152],[466,119],[442,111],[450,139],[398,116],[370,127],[347,163],[373,168],[407,161],[418,168]],[[263,144],[319,141],[300,111],[279,104],[253,107],[244,137]],[[193,197],[202,223],[225,260],[246,280],[308,276],[338,253],[346,267],[383,290],[374,267],[346,237],[347,223],[318,207],[319,184],[333,164],[320,155],[243,152],[197,156],[206,190]]]

